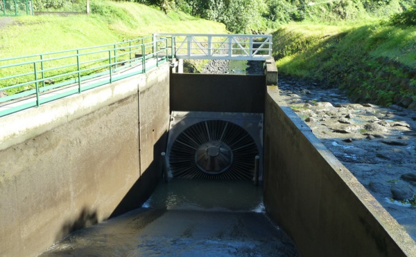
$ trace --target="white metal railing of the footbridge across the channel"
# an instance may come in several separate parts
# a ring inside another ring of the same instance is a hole
[[[272,35],[171,34],[177,59],[236,59],[263,61],[272,57]]]

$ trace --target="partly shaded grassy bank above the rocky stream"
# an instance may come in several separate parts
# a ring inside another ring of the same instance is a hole
[[[273,34],[280,74],[345,89],[357,102],[416,109],[416,27],[297,23]]]

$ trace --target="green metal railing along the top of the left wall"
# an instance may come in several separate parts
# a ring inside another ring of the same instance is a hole
[[[174,39],[143,37],[116,44],[0,59],[0,117],[81,93],[159,66]]]

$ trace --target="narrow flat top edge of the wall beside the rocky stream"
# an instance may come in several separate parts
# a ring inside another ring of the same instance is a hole
[[[315,146],[318,153],[327,161],[333,171],[347,184],[354,196],[363,204],[363,206],[374,216],[381,227],[389,234],[397,246],[407,256],[416,256],[416,242],[407,231],[399,225],[397,220],[393,218],[388,211],[376,200],[367,189],[359,182],[356,177],[336,158],[329,149],[316,137],[311,128],[296,113],[279,98],[279,90],[277,86],[268,86],[268,95],[279,105],[282,111],[290,117],[295,126],[302,131],[302,134]]]

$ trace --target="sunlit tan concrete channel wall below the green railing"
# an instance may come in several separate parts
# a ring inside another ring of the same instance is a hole
[[[0,256],[37,256],[146,200],[166,144],[168,83],[165,64],[0,118]]]

